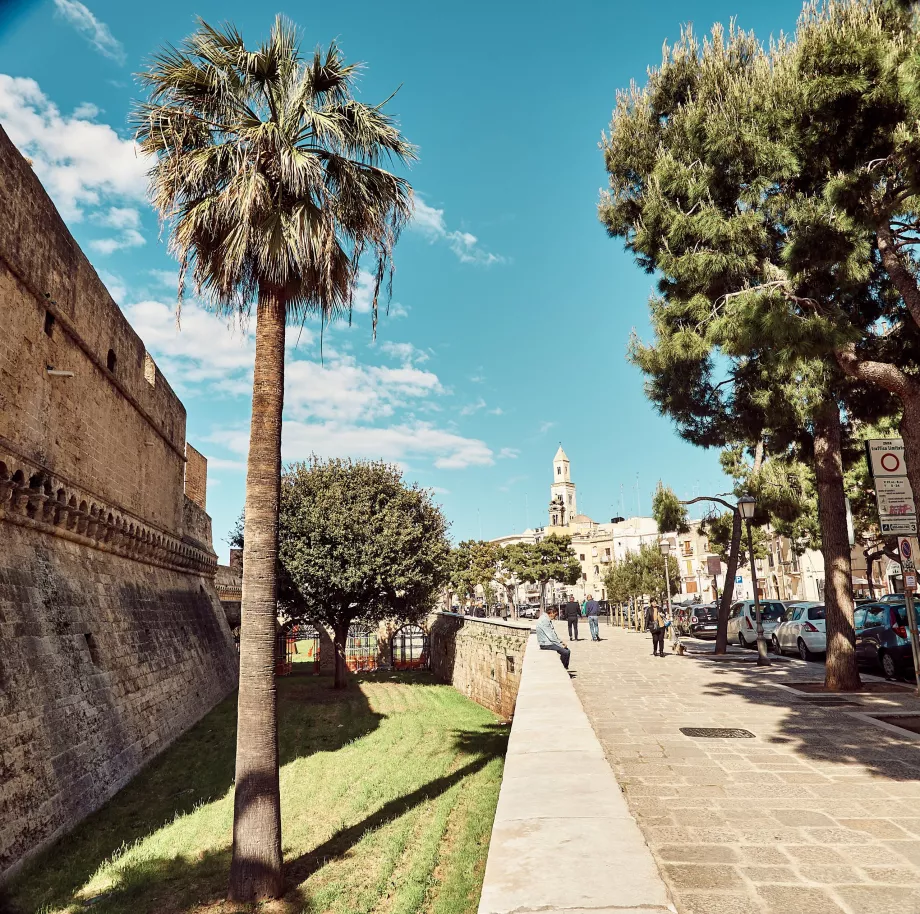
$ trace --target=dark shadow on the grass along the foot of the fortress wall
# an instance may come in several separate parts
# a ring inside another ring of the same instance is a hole
[[[278,680],[281,765],[316,752],[334,752],[379,725],[382,715],[371,709],[356,685],[339,691],[330,685],[329,677]],[[45,905],[66,906],[122,848],[226,796],[233,786],[235,755],[234,692],[104,806],[31,861],[7,889],[9,910],[31,914]]]

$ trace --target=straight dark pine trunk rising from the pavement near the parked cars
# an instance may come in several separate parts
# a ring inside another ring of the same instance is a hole
[[[815,482],[818,521],[824,553],[824,605],[827,627],[828,689],[849,692],[860,687],[853,628],[853,575],[847,511],[843,494],[840,408],[828,400],[815,417]]]

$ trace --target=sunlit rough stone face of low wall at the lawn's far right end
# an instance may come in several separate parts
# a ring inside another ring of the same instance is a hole
[[[477,704],[512,717],[531,626],[435,613],[428,630],[435,676]]]

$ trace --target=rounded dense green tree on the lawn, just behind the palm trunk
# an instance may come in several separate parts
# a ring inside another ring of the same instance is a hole
[[[312,460],[281,484],[281,562],[291,618],[328,625],[335,687],[345,687],[345,644],[355,621],[414,622],[448,579],[447,523],[428,490],[382,462]]]

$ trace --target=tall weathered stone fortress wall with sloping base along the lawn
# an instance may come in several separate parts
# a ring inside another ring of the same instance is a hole
[[[229,694],[237,660],[185,409],[2,128],[0,214],[2,879]]]

